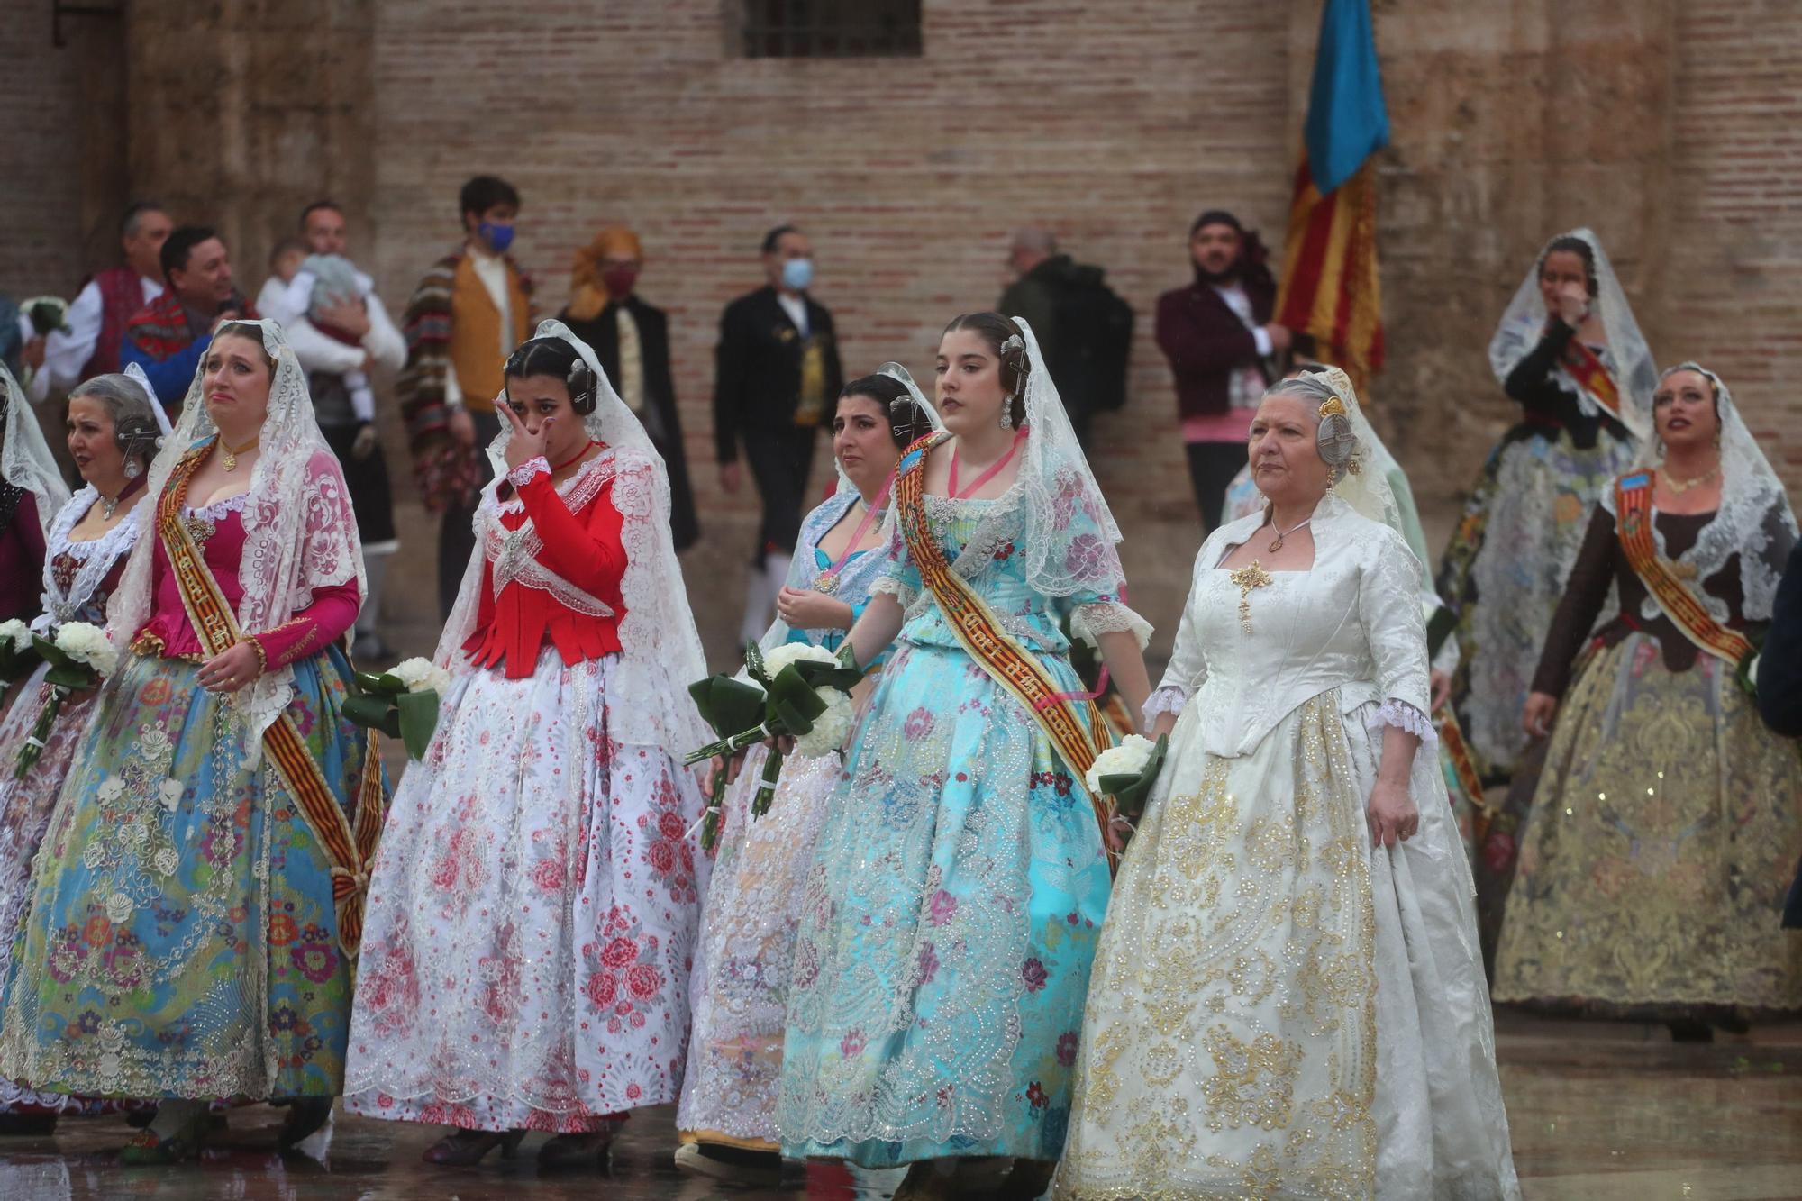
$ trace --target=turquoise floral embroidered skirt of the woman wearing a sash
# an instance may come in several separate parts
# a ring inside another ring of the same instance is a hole
[[[807,867],[784,1154],[1056,1160],[1106,903],[1088,795],[1033,716],[962,649],[899,644]]]

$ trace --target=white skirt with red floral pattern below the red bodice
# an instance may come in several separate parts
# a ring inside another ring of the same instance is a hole
[[[616,656],[461,674],[369,882],[346,1105],[580,1132],[672,1102],[701,918],[694,775],[609,736]]]

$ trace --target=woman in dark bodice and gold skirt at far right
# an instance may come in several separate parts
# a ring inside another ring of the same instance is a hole
[[[1802,759],[1735,678],[1797,521],[1712,371],[1665,371],[1654,417],[1658,442],[1589,521],[1534,676],[1524,723],[1557,725],[1496,999],[1708,1039],[1710,1024],[1744,1028],[1735,1010],[1802,1008],[1802,936],[1779,929]],[[1611,590],[1620,613],[1597,628]]]

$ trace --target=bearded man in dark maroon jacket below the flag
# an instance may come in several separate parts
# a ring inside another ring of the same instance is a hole
[[[1189,225],[1195,281],[1157,298],[1157,344],[1177,377],[1177,409],[1202,536],[1220,525],[1227,485],[1245,465],[1245,436],[1290,334],[1270,321],[1276,280],[1263,243],[1236,216],[1209,209]]]

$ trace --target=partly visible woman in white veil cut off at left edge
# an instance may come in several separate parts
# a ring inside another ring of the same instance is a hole
[[[0,364],[0,622],[38,615],[38,577],[50,518],[68,503],[38,417]]]

